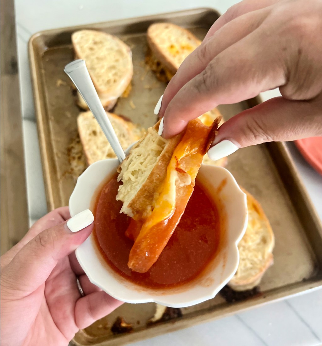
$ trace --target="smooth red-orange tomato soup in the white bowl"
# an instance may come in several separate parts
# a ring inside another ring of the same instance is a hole
[[[185,212],[158,260],[146,273],[129,269],[133,240],[125,235],[131,218],[116,201],[116,175],[98,193],[94,208],[94,238],[105,262],[119,275],[141,286],[167,288],[195,279],[215,257],[220,238],[218,209],[196,181]]]

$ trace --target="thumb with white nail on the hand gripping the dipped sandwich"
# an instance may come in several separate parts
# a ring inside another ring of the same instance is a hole
[[[239,113],[219,127],[208,156],[219,160],[250,145],[322,136],[321,99],[277,97]]]

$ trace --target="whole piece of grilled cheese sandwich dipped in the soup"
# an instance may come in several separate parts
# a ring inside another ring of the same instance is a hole
[[[219,119],[211,126],[194,119],[182,134],[166,140],[157,134],[158,123],[120,165],[123,185],[116,199],[125,204],[122,211],[132,216],[126,232],[134,240],[128,263],[132,270],[148,271],[166,246],[193,192],[218,124]]]

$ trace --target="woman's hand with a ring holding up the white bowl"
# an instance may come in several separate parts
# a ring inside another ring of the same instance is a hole
[[[69,218],[68,207],[50,212],[1,256],[1,345],[68,345],[122,304],[90,283],[75,256],[93,229],[92,212]]]

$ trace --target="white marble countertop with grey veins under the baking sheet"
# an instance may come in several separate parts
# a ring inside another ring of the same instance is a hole
[[[30,224],[46,212],[46,199],[35,122],[27,43],[40,30],[89,24],[197,7],[224,13],[235,0],[15,0],[21,108]],[[267,100],[278,95],[262,94]],[[322,176],[288,144],[299,174],[322,219]],[[233,333],[232,333],[233,331]],[[208,322],[133,345],[322,345],[322,289],[291,297],[234,316]]]

